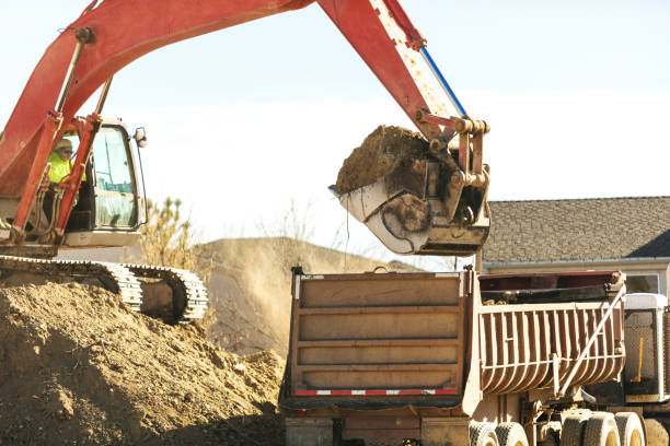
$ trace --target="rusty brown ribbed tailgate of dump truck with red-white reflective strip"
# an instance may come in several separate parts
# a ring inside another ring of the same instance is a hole
[[[458,404],[464,281],[464,273],[296,274],[282,394]]]

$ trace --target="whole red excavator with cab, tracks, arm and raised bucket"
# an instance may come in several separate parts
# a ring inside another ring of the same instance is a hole
[[[102,117],[113,77],[163,46],[311,3],[429,143],[427,156],[337,195],[342,206],[394,253],[477,253],[490,225],[483,164],[489,128],[469,117],[398,0],[93,0],[47,48],[0,132],[0,279],[96,280],[135,310],[168,302],[172,321],[200,318],[207,293],[189,271],[53,259],[61,248],[130,245],[146,221],[139,148],[147,137]],[[458,116],[448,113],[428,71]],[[78,116],[95,92],[95,108]],[[54,185],[48,160],[63,138],[76,154],[70,174]]]

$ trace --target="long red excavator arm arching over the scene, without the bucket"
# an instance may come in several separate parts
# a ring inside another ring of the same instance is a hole
[[[13,242],[5,244],[22,242],[21,234],[34,204],[47,159],[63,131],[63,124],[71,122],[82,104],[114,73],[165,45],[301,9],[312,2],[94,0],[47,48],[0,134],[0,200],[5,200],[4,207],[0,206],[0,209],[15,209],[12,219]],[[461,116],[463,119],[448,118],[443,104],[436,98],[434,89],[424,79],[425,71],[417,68],[423,63],[419,52],[425,45],[423,37],[397,0],[316,2],[424,136],[429,141],[439,140],[436,142],[436,151],[446,146],[454,131],[475,140],[477,134],[485,132],[485,126],[471,121],[466,116]],[[92,122],[96,119],[96,114],[90,116]],[[440,148],[440,144],[443,146]],[[461,151],[457,160],[464,171],[465,186],[469,180],[475,186],[484,183],[481,143],[471,143],[469,138],[462,138],[461,144],[465,144],[466,149]],[[473,163],[474,169],[471,167]],[[470,174],[475,177],[469,179]],[[77,178],[72,180],[74,183],[71,188],[76,190],[79,183]],[[459,201],[458,197],[455,201]],[[12,207],[8,200],[18,203]],[[454,196],[451,201],[442,201],[453,202]],[[68,210],[61,212],[65,214]],[[477,212],[482,213],[482,210]],[[452,219],[454,213],[455,208],[454,212],[447,211],[447,215]],[[2,216],[11,218],[7,213]],[[472,221],[464,224],[471,225]],[[416,253],[419,249],[413,250]]]

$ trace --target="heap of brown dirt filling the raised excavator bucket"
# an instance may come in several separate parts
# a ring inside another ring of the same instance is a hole
[[[420,133],[402,127],[379,126],[344,161],[335,190],[347,193],[371,185],[403,163],[426,157],[428,142]]]

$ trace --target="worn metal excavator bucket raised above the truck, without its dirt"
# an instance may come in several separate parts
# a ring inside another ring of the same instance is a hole
[[[471,144],[469,138],[461,137],[461,142],[457,138],[451,144],[437,141],[425,156],[396,163],[372,184],[347,193],[332,190],[393,253],[471,256],[488,237],[489,176],[487,165],[461,168],[461,145],[472,162],[472,149],[478,144]],[[474,159],[481,163],[476,154]]]

